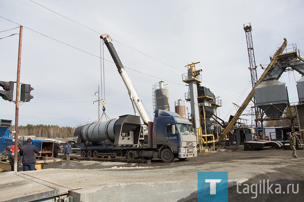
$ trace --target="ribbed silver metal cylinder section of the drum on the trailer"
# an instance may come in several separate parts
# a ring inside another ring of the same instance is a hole
[[[84,141],[99,143],[105,140],[115,141],[114,125],[118,119],[92,123],[84,126],[81,131],[81,138]]]

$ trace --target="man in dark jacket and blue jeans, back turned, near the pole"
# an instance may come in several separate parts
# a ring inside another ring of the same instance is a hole
[[[28,138],[26,140],[26,145],[21,147],[21,156],[23,171],[35,170],[36,157],[35,153],[38,154],[39,151],[35,145],[32,144],[32,139]]]

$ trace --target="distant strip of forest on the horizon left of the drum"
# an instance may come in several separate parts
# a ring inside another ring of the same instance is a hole
[[[81,124],[80,124],[81,125]],[[47,138],[67,138],[73,137],[74,131],[76,127],[60,127],[54,125],[32,125],[27,124],[26,126],[19,126],[18,127],[18,136],[29,136],[34,135],[36,137],[47,137]],[[11,126],[9,130],[14,131],[15,126]]]

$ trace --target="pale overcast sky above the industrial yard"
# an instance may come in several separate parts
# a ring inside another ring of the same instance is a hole
[[[174,101],[185,100],[188,92],[181,77],[185,66],[200,62],[201,85],[220,96],[218,115],[228,121],[236,113],[232,103],[240,106],[251,90],[243,24],[252,25],[256,64],[267,66],[284,38],[304,51],[303,7],[301,0],[1,0],[0,38],[19,33],[19,28],[5,30],[24,26],[20,80],[34,88],[34,99],[19,106],[19,125],[76,126],[98,120],[93,102],[103,85],[103,62],[107,116],[133,114],[106,46],[102,51],[99,37],[106,33],[151,117],[152,85],[168,83],[174,111]],[[1,81],[16,81],[18,42],[19,35],[0,40]],[[260,77],[263,70],[257,72]],[[285,72],[279,79],[288,86],[290,102],[298,101],[295,82],[300,78],[297,72]],[[186,106],[190,112],[190,104]],[[14,124],[15,104],[0,99],[0,108],[0,118]],[[251,116],[242,117],[251,123]]]

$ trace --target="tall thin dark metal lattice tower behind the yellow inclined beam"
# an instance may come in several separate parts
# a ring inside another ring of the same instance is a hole
[[[255,84],[257,83],[257,67],[255,65],[255,59],[254,59],[254,50],[253,50],[253,43],[252,43],[252,36],[251,36],[251,24],[244,24],[243,25],[245,34],[246,34],[246,41],[247,41],[247,50],[248,50],[248,57],[249,57],[249,65],[250,67],[248,69],[250,69],[250,74],[251,74],[251,84],[252,84],[252,89],[254,88]],[[257,108],[255,106],[255,96],[253,97],[253,101],[254,101],[254,110],[255,110],[255,115],[257,116]],[[256,117],[254,118],[254,115],[252,115],[252,119],[254,120],[256,119]],[[256,126],[258,126],[257,121],[256,121]]]

